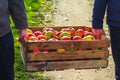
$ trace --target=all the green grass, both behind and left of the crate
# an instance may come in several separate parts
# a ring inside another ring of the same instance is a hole
[[[25,6],[28,16],[29,26],[52,25],[54,0],[25,0]],[[49,16],[47,16],[49,15]],[[46,17],[47,16],[47,17]],[[11,19],[11,18],[10,18]],[[12,19],[11,19],[12,21]],[[12,31],[14,35],[14,50],[15,50],[15,77],[16,80],[50,80],[49,77],[44,76],[41,72],[26,72],[22,57],[20,54],[20,43],[18,42],[19,31],[11,22]]]

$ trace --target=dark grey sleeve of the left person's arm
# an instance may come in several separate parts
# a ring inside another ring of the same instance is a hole
[[[28,27],[26,10],[23,0],[8,0],[9,12],[18,29]]]

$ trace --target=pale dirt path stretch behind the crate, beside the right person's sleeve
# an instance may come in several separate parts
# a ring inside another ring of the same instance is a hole
[[[59,0],[55,25],[91,25],[87,0]]]

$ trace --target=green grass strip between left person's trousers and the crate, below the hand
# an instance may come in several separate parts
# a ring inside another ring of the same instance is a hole
[[[40,72],[26,72],[20,54],[20,43],[18,42],[19,31],[12,27],[15,42],[15,77],[16,80],[50,80]]]

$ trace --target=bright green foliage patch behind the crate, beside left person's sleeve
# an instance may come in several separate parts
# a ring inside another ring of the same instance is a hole
[[[29,26],[52,25],[55,9],[53,0],[25,0]]]

